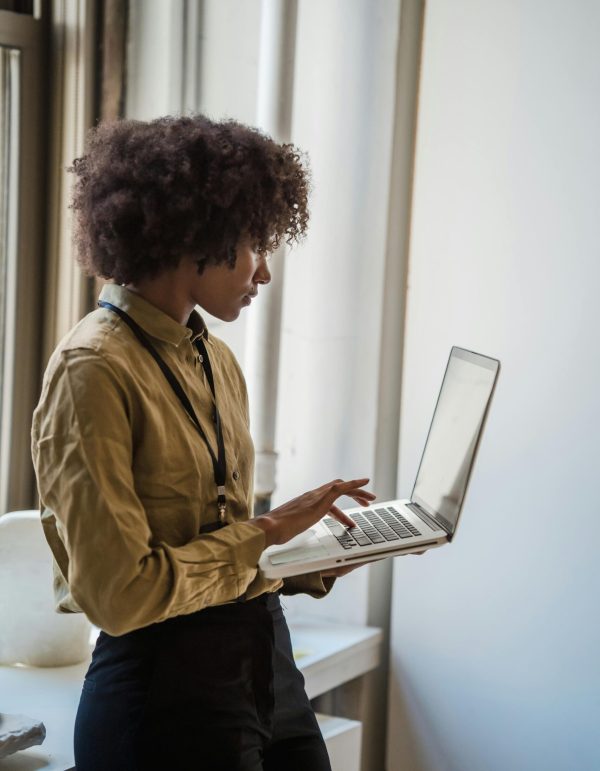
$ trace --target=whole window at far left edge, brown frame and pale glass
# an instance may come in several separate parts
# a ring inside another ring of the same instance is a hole
[[[0,515],[33,503],[45,183],[41,21],[10,5],[20,12],[0,10]]]

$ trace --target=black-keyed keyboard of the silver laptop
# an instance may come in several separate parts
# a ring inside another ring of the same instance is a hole
[[[386,541],[400,541],[421,535],[412,522],[392,506],[352,514],[352,519],[357,525],[352,528],[346,528],[333,517],[325,517],[323,520],[344,549],[371,546],[374,543],[386,543]]]

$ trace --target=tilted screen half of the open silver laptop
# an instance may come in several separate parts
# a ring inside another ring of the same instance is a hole
[[[411,500],[452,534],[458,521],[499,362],[453,348]]]

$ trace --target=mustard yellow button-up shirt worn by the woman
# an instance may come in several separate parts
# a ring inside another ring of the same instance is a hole
[[[57,610],[83,611],[112,635],[209,605],[275,591],[257,562],[254,449],[243,375],[194,311],[187,326],[125,287],[101,294],[147,333],[186,391],[216,452],[212,394],[194,340],[204,334],[227,457],[228,526],[217,520],[208,450],[156,362],[115,313],[88,314],[48,364],[33,416],[42,524],[54,555]],[[319,574],[285,593],[326,594]]]

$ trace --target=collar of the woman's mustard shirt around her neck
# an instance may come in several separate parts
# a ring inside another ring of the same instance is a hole
[[[208,329],[202,316],[192,311],[187,324],[179,324],[156,306],[144,300],[139,294],[119,284],[105,284],[100,300],[116,305],[128,313],[150,337],[179,346],[188,339],[192,343],[203,336],[208,339]]]

